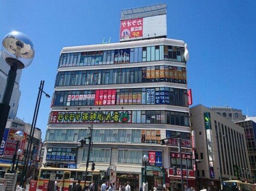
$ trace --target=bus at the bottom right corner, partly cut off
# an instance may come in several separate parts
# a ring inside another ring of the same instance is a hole
[[[223,181],[222,182],[223,191],[256,191],[256,185],[250,184],[242,181]]]

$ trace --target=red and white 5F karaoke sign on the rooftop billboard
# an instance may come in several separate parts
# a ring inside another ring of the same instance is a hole
[[[121,20],[120,39],[132,40],[143,35],[143,18]]]

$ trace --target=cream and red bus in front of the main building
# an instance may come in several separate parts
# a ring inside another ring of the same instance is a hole
[[[78,180],[81,180],[81,186],[84,188],[85,180],[85,168],[52,168],[41,167],[38,174],[37,186],[39,189],[43,188],[44,182],[49,181],[51,172],[56,173],[55,180],[58,182],[58,187],[62,186],[63,191],[68,191],[69,187],[73,187]],[[102,177],[104,171],[95,169],[91,171],[88,169],[86,176],[86,186],[89,186],[89,182],[94,181],[95,191],[100,191],[102,184]]]

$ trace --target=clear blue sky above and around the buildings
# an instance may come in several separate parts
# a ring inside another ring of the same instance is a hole
[[[22,71],[17,116],[31,123],[40,80],[53,94],[60,51],[66,46],[119,41],[122,9],[157,0],[2,0],[0,38],[28,35],[35,58]],[[188,44],[188,88],[193,105],[231,106],[256,116],[256,1],[168,0],[167,38]],[[51,99],[42,97],[37,127],[45,138]]]

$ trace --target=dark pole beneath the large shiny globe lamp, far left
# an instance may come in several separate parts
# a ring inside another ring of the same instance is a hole
[[[3,136],[5,133],[5,126],[8,121],[9,111],[10,111],[10,98],[13,91],[13,86],[15,83],[17,75],[17,65],[14,63],[10,66],[10,70],[7,76],[7,82],[5,85],[5,91],[3,94],[2,103],[0,103],[0,141],[3,140]]]

